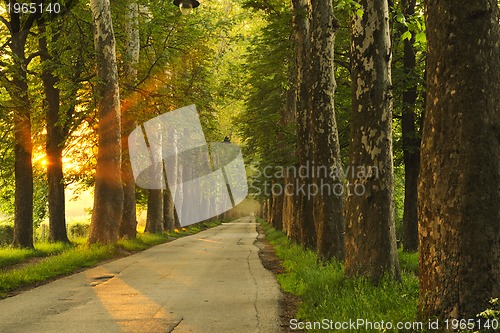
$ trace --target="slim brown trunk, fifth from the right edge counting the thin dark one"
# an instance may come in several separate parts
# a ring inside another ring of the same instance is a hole
[[[310,42],[310,2],[307,0],[292,0],[294,17],[294,42],[296,52],[297,67],[297,160],[299,168],[311,167],[311,114],[309,86],[310,65],[309,65],[309,42]],[[310,179],[300,177],[298,179],[299,188],[308,188]],[[297,219],[301,223],[300,239],[301,243],[309,248],[316,246],[316,227],[314,225],[312,200],[307,193],[296,191],[296,212]]]

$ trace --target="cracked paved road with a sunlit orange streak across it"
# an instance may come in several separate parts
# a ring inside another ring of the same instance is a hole
[[[279,332],[279,287],[253,218],[0,301],[0,332]]]

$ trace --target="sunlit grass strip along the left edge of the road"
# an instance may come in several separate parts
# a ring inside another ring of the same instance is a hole
[[[35,250],[0,249],[0,298],[20,288],[37,285],[58,276],[70,274],[81,268],[90,267],[107,259],[123,256],[123,251],[142,251],[151,246],[165,243],[172,238],[192,235],[219,225],[220,222],[199,223],[181,230],[162,234],[139,234],[133,240],[120,240],[114,245],[37,244]],[[22,267],[8,266],[22,263],[28,258],[46,257]],[[1,266],[4,265],[4,266]]]

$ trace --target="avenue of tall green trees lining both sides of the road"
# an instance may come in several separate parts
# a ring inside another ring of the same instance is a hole
[[[418,250],[422,319],[475,318],[500,296],[497,1],[16,3],[0,16],[15,246],[45,216],[69,241],[68,184],[94,189],[91,243],[135,237],[138,204],[146,231],[173,229],[173,194],[136,188],[127,137],[196,104],[208,141],[241,144],[263,217],[320,260],[378,283],[400,279],[398,247]]]

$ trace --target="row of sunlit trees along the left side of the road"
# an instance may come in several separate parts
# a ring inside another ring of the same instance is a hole
[[[0,192],[14,244],[33,246],[46,210],[50,239],[68,242],[69,183],[95,185],[90,242],[135,237],[136,199],[149,207],[148,231],[173,228],[169,194],[136,191],[127,137],[147,119],[196,104],[207,139],[222,141],[225,87],[214,76],[230,70],[223,59],[240,23],[227,17],[233,6],[181,16],[155,0],[59,1],[58,12],[47,9],[54,1],[34,3],[44,11],[7,10],[17,8],[8,0],[0,17]]]

